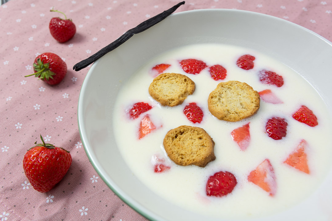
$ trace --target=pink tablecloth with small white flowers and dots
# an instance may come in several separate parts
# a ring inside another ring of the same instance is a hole
[[[89,67],[77,62],[114,41],[126,30],[177,4],[177,0],[11,0],[0,6],[0,219],[3,220],[146,220],[119,199],[90,164],[77,125],[77,101]],[[77,33],[56,42],[48,23],[64,12]],[[280,17],[332,40],[332,0],[191,0],[176,12],[230,8]],[[190,24],[194,25],[194,24]],[[199,30],[197,30],[199,31]],[[33,61],[43,52],[67,64],[65,79],[49,86],[34,77]],[[35,191],[22,160],[40,140],[69,151],[73,163],[48,193]]]

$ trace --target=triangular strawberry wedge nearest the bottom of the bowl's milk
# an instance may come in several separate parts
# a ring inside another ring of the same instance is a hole
[[[269,159],[265,159],[255,170],[250,172],[248,181],[270,193],[270,196],[274,196],[277,192],[276,176]]]

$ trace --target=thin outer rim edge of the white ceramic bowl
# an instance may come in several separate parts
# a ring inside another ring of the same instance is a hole
[[[197,12],[219,12],[219,13],[234,12],[234,13],[244,13],[244,14],[247,14],[247,15],[261,16],[262,18],[270,18],[270,19],[272,18],[272,19],[275,19],[279,22],[282,22],[282,23],[284,23],[288,26],[293,26],[294,28],[298,28],[298,29],[302,29],[302,30],[305,30],[307,32],[310,32],[311,34],[318,37],[320,40],[323,40],[324,42],[326,42],[330,46],[332,46],[331,41],[327,40],[323,36],[313,32],[312,30],[310,30],[308,28],[304,28],[304,27],[302,27],[298,24],[295,24],[293,22],[290,22],[290,21],[282,19],[282,18],[278,18],[278,17],[272,16],[272,15],[267,15],[267,14],[263,14],[263,13],[259,13],[259,12],[239,10],[239,9],[195,9],[195,10],[176,12],[176,13],[171,14],[169,17],[176,17],[176,16],[184,15],[184,14],[193,14],[193,13],[197,13]],[[167,18],[165,20],[167,20]],[[111,52],[109,52],[109,53],[111,53]],[[102,58],[100,58],[100,59],[102,59]],[[85,152],[87,154],[87,157],[88,157],[89,161],[91,162],[91,164],[94,167],[94,169],[96,170],[96,172],[99,174],[99,176],[105,182],[105,184],[111,189],[111,191],[114,192],[121,200],[123,200],[124,203],[126,203],[133,210],[135,210],[137,213],[139,213],[140,215],[142,215],[143,217],[145,217],[148,220],[151,220],[151,221],[163,220],[162,218],[160,218],[158,216],[158,214],[155,214],[153,211],[148,210],[144,206],[141,206],[139,203],[134,202],[134,200],[132,200],[132,198],[130,196],[125,194],[118,185],[116,185],[114,182],[109,181],[108,179],[106,179],[106,175],[103,172],[101,164],[96,160],[96,154],[91,149],[91,147],[88,145],[89,142],[88,142],[88,139],[87,139],[86,131],[84,129],[85,128],[84,127],[85,126],[84,125],[84,118],[82,116],[82,113],[84,112],[82,101],[83,101],[84,91],[87,87],[89,78],[92,77],[92,72],[95,69],[95,67],[98,65],[100,59],[98,59],[96,62],[94,62],[92,64],[91,68],[89,69],[88,73],[86,74],[86,77],[83,80],[81,90],[80,90],[80,93],[79,93],[79,98],[78,98],[77,119],[78,119],[79,134],[80,134],[80,138],[81,138],[83,147],[85,149]]]

